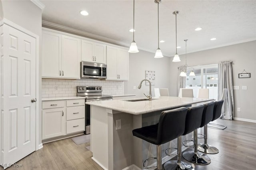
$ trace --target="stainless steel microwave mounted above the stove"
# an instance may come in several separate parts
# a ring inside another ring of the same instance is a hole
[[[81,78],[106,78],[107,65],[81,62]]]

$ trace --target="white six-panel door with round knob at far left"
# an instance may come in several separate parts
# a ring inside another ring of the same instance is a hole
[[[4,163],[36,149],[36,39],[4,25]]]

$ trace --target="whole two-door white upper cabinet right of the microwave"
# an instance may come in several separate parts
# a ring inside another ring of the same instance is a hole
[[[127,49],[107,46],[106,80],[129,79],[129,53]]]

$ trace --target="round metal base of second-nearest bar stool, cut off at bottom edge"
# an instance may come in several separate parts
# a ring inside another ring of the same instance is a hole
[[[180,164],[176,160],[169,160],[164,163],[165,170],[194,170],[194,164],[187,164],[181,161]]]

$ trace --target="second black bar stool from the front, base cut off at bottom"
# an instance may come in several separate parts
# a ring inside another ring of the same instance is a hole
[[[202,114],[203,114],[204,106],[198,105],[193,107],[188,107],[188,113],[186,116],[186,123],[184,124],[185,130],[182,135],[187,135],[188,133],[191,133],[195,129],[199,128],[202,121]],[[181,143],[182,139],[181,136],[178,137],[178,159],[177,162],[174,162],[173,160],[167,161],[164,164],[165,170],[194,170],[194,165],[187,164],[186,162],[181,161]],[[166,151],[169,150],[166,149]],[[166,153],[165,151],[165,153]],[[167,153],[166,153],[167,154]],[[172,156],[170,154],[167,154],[168,156]]]

